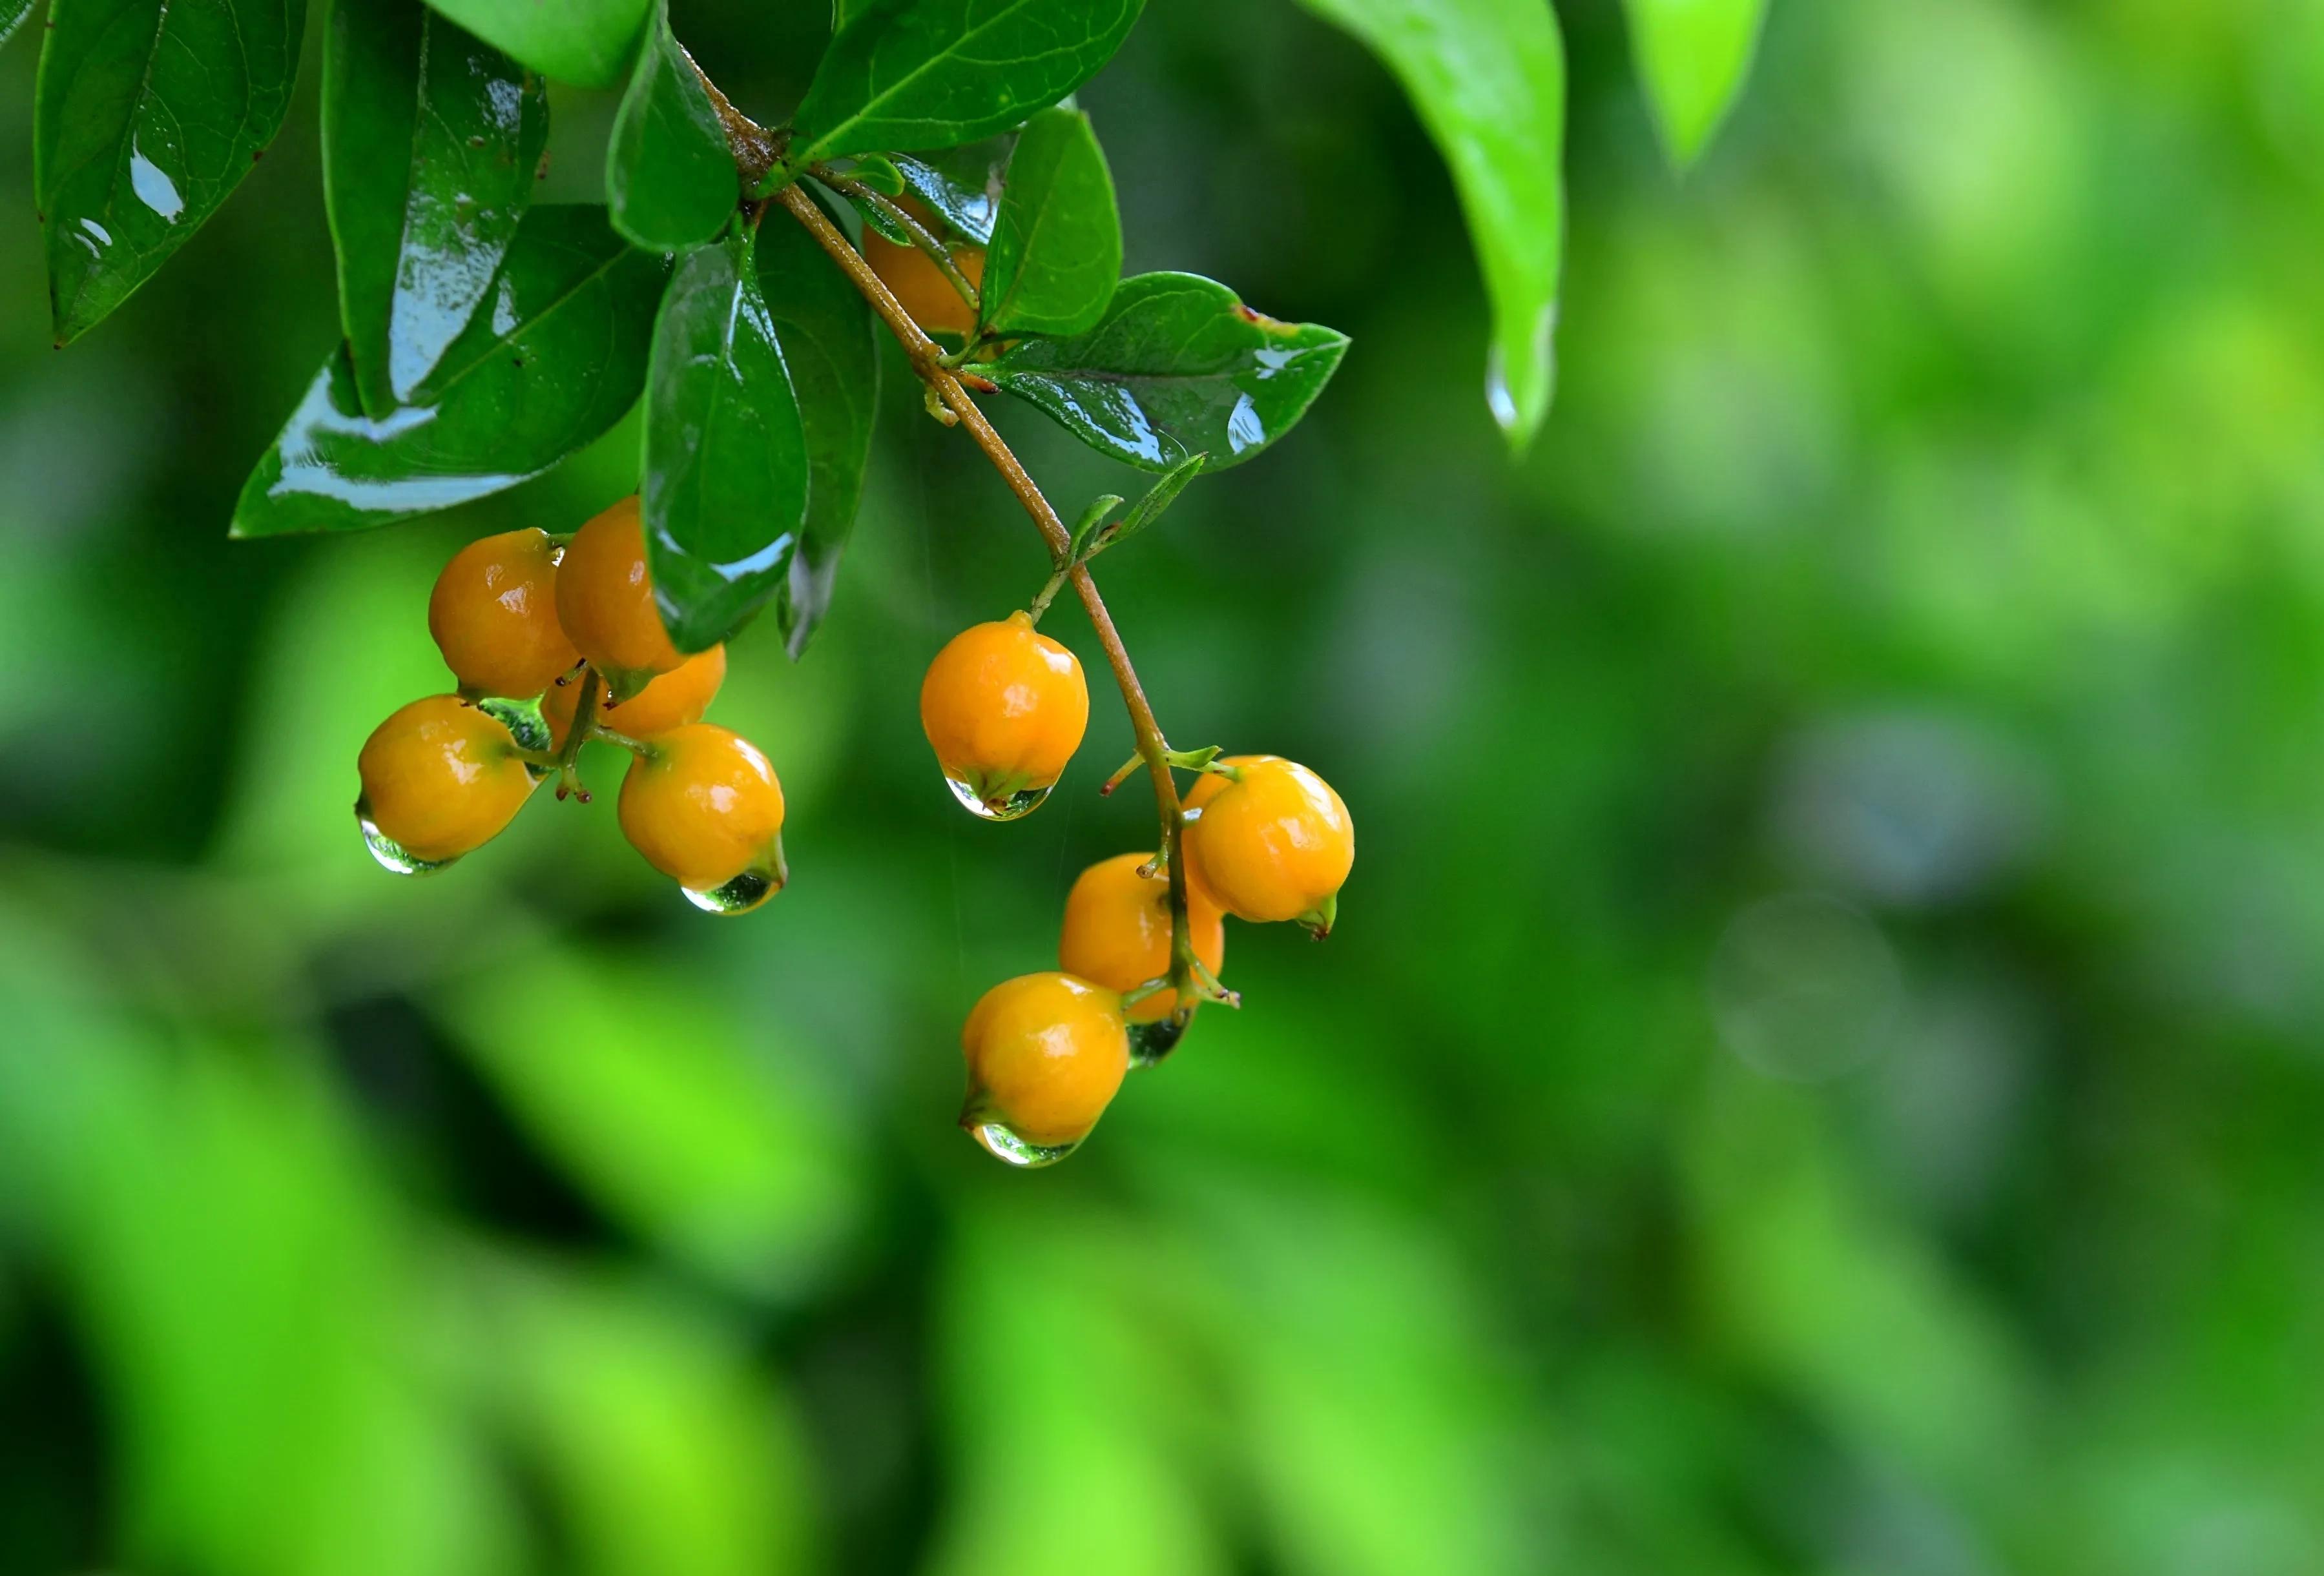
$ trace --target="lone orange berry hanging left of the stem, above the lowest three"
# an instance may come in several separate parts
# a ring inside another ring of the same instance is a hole
[[[1046,793],[1088,725],[1081,662],[1034,630],[1027,614],[969,625],[920,681],[920,728],[937,765],[995,811],[1018,795]]]

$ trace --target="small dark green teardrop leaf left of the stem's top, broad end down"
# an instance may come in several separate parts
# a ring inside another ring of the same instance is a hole
[[[669,35],[669,5],[646,19],[630,91],[604,151],[614,228],[646,251],[683,251],[718,235],[741,200],[734,149],[693,56]]]

